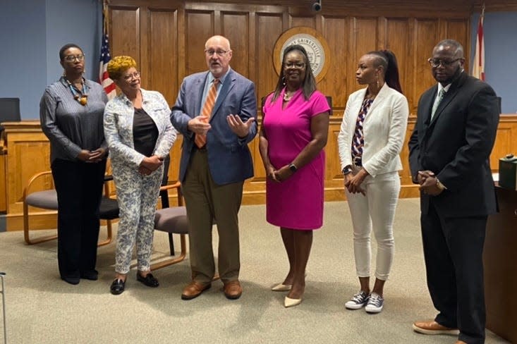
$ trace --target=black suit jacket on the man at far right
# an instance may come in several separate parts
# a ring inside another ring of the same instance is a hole
[[[430,170],[446,186],[434,197],[437,211],[446,217],[483,216],[497,211],[489,156],[499,123],[499,106],[487,83],[461,73],[452,82],[432,121],[437,95],[434,85],[418,102],[418,118],[409,140],[413,183],[418,171]],[[430,197],[420,195],[422,214]]]

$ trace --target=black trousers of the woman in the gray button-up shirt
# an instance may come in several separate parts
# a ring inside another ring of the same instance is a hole
[[[79,277],[95,270],[106,160],[87,164],[56,159],[51,170],[58,199],[59,274]]]

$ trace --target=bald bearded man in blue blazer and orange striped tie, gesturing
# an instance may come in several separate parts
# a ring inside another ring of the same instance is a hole
[[[215,274],[212,223],[219,233],[218,271],[224,295],[241,297],[238,281],[238,211],[243,183],[253,176],[248,143],[257,134],[255,85],[230,68],[230,42],[205,44],[208,71],[183,80],[171,122],[183,134],[180,180],[188,215],[192,281],[181,294],[191,300],[210,288]]]

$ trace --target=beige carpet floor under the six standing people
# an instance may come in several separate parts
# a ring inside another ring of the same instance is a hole
[[[345,202],[325,204],[304,300],[289,309],[283,306],[285,293],[269,291],[284,278],[287,259],[278,229],[265,221],[264,206],[241,210],[244,293],[232,301],[224,297],[220,281],[195,300],[181,300],[190,276],[188,259],[155,271],[161,283],[156,289],[135,281],[133,266],[126,292],[111,295],[114,242],[99,248],[99,281],[69,285],[59,279],[55,241],[28,246],[21,232],[0,233],[8,343],[455,343],[451,336],[411,330],[412,321],[436,314],[425,285],[418,211],[418,199],[399,202],[396,257],[380,314],[344,308],[358,290]],[[154,258],[164,257],[166,234],[156,233],[154,242]],[[0,338],[3,343],[3,333]],[[487,343],[508,342],[487,331]]]

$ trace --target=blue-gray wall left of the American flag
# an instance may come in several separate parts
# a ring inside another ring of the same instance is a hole
[[[39,118],[39,99],[59,79],[59,49],[78,44],[86,78],[98,79],[102,35],[99,0],[2,0],[0,97],[20,98],[22,119]]]

